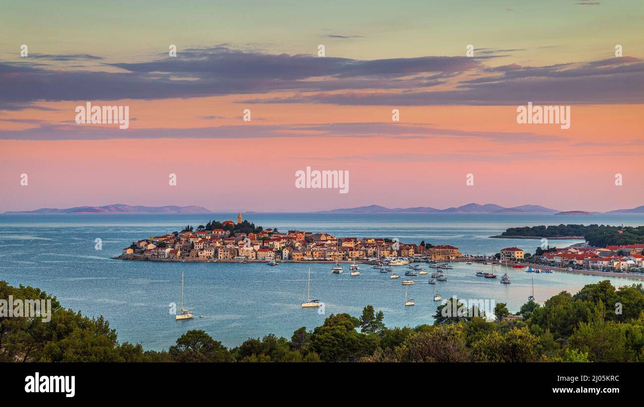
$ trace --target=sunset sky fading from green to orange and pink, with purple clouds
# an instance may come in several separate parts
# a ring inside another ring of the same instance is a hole
[[[641,1],[6,1],[0,212],[644,205],[643,25]],[[129,127],[77,124],[87,102]]]

